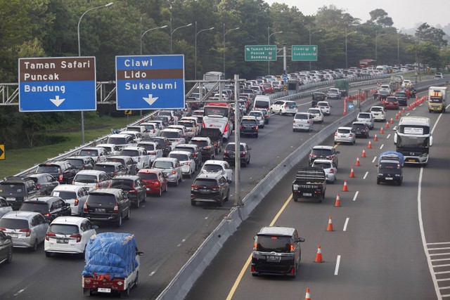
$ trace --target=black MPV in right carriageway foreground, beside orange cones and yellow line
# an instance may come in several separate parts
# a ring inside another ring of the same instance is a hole
[[[276,274],[295,277],[302,259],[300,242],[295,228],[263,227],[254,237],[251,273]]]

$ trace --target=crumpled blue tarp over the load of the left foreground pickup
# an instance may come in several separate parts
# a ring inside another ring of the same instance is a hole
[[[136,240],[131,233],[98,233],[86,245],[83,276],[126,278],[138,266]]]

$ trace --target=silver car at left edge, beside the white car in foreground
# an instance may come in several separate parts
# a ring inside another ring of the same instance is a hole
[[[33,251],[44,242],[49,221],[35,211],[11,211],[0,219],[0,228],[13,238],[14,247],[28,247]]]

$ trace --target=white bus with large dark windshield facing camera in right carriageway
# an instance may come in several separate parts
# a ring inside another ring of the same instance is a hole
[[[430,118],[401,117],[394,134],[394,143],[406,164],[427,164],[433,143]]]

